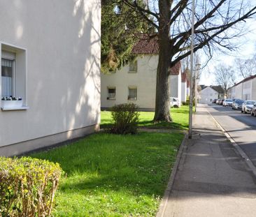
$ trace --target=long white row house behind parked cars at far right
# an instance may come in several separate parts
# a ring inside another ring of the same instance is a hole
[[[256,100],[256,75],[251,75],[235,84],[228,91],[230,98]]]

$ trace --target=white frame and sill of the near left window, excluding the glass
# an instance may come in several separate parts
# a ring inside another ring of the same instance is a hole
[[[2,59],[2,52],[8,53],[14,53],[15,54],[15,66],[13,67],[13,70],[15,72],[13,73],[13,97],[22,97],[22,103],[18,103],[18,105],[13,105],[11,107],[5,107],[6,102],[0,103],[0,107],[2,111],[6,110],[27,110],[29,107],[27,106],[27,49],[24,47],[19,47],[17,45],[12,45],[10,43],[5,43],[0,40],[0,59]],[[3,55],[3,59],[9,59],[6,58],[5,55]],[[18,65],[18,66],[17,66]],[[18,73],[20,75],[18,75]],[[0,74],[1,74],[1,68],[0,68]],[[18,77],[22,77],[22,81],[20,84],[17,84]],[[1,93],[1,80],[0,80],[0,95]],[[20,93],[17,93],[17,87],[22,87],[22,91]],[[12,102],[15,103],[14,101]]]

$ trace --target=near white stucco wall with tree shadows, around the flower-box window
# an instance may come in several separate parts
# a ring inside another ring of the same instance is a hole
[[[0,111],[0,147],[99,124],[101,1],[3,0],[0,8],[1,42],[27,50],[29,107]]]

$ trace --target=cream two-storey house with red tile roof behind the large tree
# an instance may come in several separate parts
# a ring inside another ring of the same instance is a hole
[[[140,40],[132,51],[136,59],[116,72],[101,73],[101,109],[120,103],[135,103],[144,111],[155,110],[159,47],[157,40]],[[170,96],[181,97],[180,63],[171,70]]]

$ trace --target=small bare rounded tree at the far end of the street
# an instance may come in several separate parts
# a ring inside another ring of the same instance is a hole
[[[224,90],[227,96],[227,90],[235,84],[236,75],[232,66],[225,66],[225,64],[220,63],[215,66],[215,82],[219,84]]]

